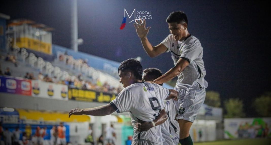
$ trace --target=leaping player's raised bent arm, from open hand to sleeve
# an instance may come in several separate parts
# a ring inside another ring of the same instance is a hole
[[[153,47],[151,45],[151,43],[149,42],[148,38],[147,38],[147,34],[149,33],[149,30],[151,27],[147,27],[146,29],[146,20],[144,19],[143,22],[138,20],[137,23],[142,23],[142,24],[136,24],[134,23],[136,32],[138,37],[141,40],[142,46],[144,48],[144,50],[146,51],[146,53],[150,56],[150,57],[156,57],[164,52],[167,51],[167,47],[164,46],[163,44],[159,44],[155,47]]]

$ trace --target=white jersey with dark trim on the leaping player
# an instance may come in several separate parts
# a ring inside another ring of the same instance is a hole
[[[203,48],[195,36],[190,35],[186,40],[175,41],[173,35],[169,34],[161,44],[168,48],[167,52],[171,52],[174,65],[176,65],[179,58],[189,62],[189,65],[178,75],[176,83],[178,88],[187,90],[194,84],[200,85],[197,87],[208,87],[207,81],[204,80],[206,71],[202,60]]]

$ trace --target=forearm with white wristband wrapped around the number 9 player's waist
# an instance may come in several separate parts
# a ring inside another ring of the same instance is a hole
[[[153,122],[155,123],[155,126],[157,126],[164,123],[166,120],[167,120],[167,113],[165,109],[163,109],[160,112],[160,114],[157,116],[157,118],[153,120]],[[138,122],[135,123],[135,127],[137,127],[138,131],[140,132],[147,131],[153,127],[153,123],[151,122],[144,122],[142,120],[137,120],[137,121]]]

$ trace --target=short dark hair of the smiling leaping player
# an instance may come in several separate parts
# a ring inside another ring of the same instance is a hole
[[[170,13],[169,16],[167,17],[166,21],[167,21],[167,23],[177,22],[177,24],[179,24],[181,22],[185,22],[188,25],[188,20],[187,20],[186,14],[183,11],[177,11],[177,12]]]

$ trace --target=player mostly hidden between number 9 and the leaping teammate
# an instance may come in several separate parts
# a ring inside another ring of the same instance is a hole
[[[143,70],[142,80],[153,81],[162,75],[163,75],[162,72],[158,68],[146,68],[145,70]],[[160,85],[163,86],[163,84]],[[175,120],[176,114],[178,112],[178,109],[176,108],[175,104],[178,104],[178,101],[170,99],[164,100],[164,103],[168,119],[166,120],[166,122],[161,124],[162,136],[164,138],[163,144],[164,145],[178,144],[180,129],[179,123],[177,122],[177,120]]]

